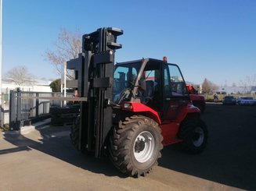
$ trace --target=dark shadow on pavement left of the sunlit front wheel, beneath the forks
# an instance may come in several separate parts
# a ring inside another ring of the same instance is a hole
[[[41,129],[39,132],[41,134],[39,140],[28,138],[27,135],[5,133],[4,139],[16,147],[0,150],[0,154],[22,150],[39,150],[90,172],[126,178],[114,168],[108,157],[103,156],[96,159],[94,156],[81,154],[80,151],[76,150],[70,142],[70,129],[68,127],[53,126]]]

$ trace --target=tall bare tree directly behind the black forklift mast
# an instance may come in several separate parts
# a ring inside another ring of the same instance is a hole
[[[64,63],[67,60],[78,58],[78,54],[81,52],[81,34],[78,31],[71,33],[63,29],[54,46],[55,50],[45,51],[45,57],[56,68],[56,73],[61,76]],[[74,74],[67,71],[67,78],[74,79]]]

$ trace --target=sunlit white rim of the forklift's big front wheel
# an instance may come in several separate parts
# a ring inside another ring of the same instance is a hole
[[[148,131],[143,131],[135,139],[133,144],[133,154],[140,163],[146,162],[152,157],[155,149],[155,140]]]

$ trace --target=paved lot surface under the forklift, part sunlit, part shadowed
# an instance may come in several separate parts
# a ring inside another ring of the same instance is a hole
[[[107,157],[72,147],[68,127],[0,135],[0,190],[256,190],[256,107],[207,104],[202,154],[165,147],[146,177],[118,172]]]

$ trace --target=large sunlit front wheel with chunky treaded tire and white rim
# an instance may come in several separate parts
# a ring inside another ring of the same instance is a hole
[[[110,136],[110,159],[121,172],[145,176],[161,157],[163,136],[157,122],[142,115],[125,118]]]

